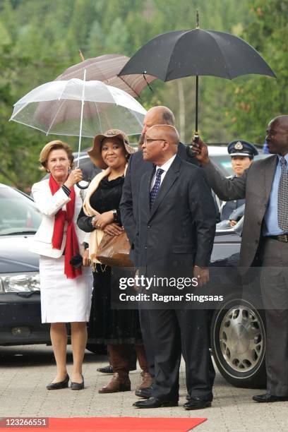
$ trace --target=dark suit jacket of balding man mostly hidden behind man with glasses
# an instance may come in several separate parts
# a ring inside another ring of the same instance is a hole
[[[191,157],[187,149],[186,145],[179,143],[177,152],[179,157],[191,164],[199,165],[198,160],[196,160],[195,157]],[[134,248],[134,239],[136,234],[137,200],[140,179],[145,172],[148,172],[148,170],[151,169],[151,167],[153,167],[152,162],[144,161],[142,151],[138,151],[131,155],[125,175],[120,211],[121,221],[126,229],[132,249]],[[133,259],[133,254],[131,258]]]

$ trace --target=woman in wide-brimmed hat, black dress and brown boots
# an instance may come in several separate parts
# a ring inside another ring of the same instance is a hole
[[[88,154],[92,162],[104,171],[92,179],[78,217],[78,227],[91,233],[89,258],[95,270],[88,335],[91,341],[107,343],[114,371],[111,382],[101,388],[100,393],[131,390],[128,371],[133,344],[146,379],[148,374],[138,311],[111,309],[111,268],[101,265],[96,259],[97,247],[104,232],[116,236],[123,231],[119,203],[128,158],[134,151],[126,134],[119,129],[110,129],[95,137]]]

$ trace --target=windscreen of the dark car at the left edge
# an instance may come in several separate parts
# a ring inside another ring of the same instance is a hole
[[[0,188],[0,236],[33,234],[42,217],[30,198],[13,188]]]

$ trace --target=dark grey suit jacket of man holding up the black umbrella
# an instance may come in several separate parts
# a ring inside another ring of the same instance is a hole
[[[221,200],[246,199],[242,232],[240,266],[259,265],[261,259],[261,229],[268,206],[277,155],[253,162],[241,177],[227,179],[210,162],[204,167],[211,188]]]

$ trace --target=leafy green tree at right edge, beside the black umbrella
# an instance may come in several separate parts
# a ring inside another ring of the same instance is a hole
[[[268,121],[287,113],[288,0],[250,0],[249,5],[253,19],[243,37],[268,61],[277,79],[239,78],[231,92],[234,104],[229,118],[238,136],[263,143]]]

